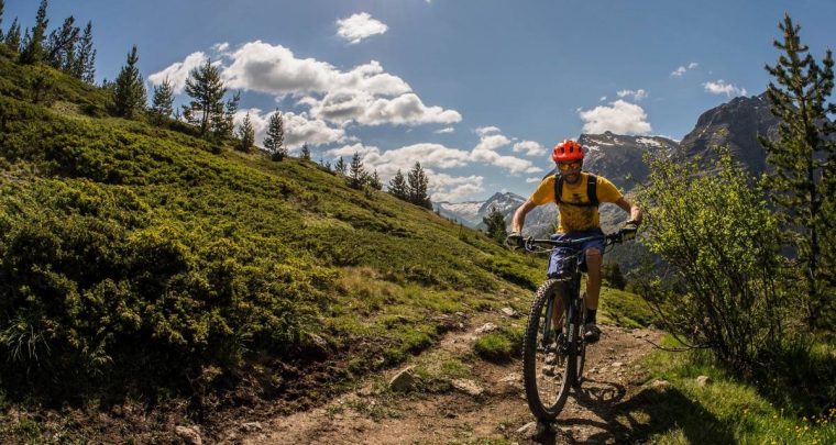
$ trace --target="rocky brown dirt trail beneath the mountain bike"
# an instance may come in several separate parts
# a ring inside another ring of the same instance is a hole
[[[364,385],[330,403],[250,427],[231,430],[223,443],[245,444],[426,444],[505,440],[514,443],[615,443],[630,441],[635,419],[624,419],[617,407],[647,385],[647,372],[636,361],[660,333],[602,326],[598,344],[587,351],[582,393],[570,396],[552,431],[539,435],[519,432],[534,421],[524,396],[521,363],[495,365],[470,355],[479,337],[474,331],[488,320],[472,321],[464,330],[446,334],[437,348],[466,360],[473,380],[483,389],[471,396],[451,389],[443,393],[393,393],[375,389],[398,369],[373,376]],[[521,323],[521,321],[520,321]],[[432,351],[432,349],[431,349]],[[428,354],[430,351],[425,352]],[[640,423],[640,422],[639,422]],[[249,430],[249,431],[248,431]],[[531,431],[531,430],[529,430]]]

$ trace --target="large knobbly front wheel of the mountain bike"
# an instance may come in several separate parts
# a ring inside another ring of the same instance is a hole
[[[565,281],[550,279],[540,285],[535,293],[531,311],[526,325],[526,336],[522,346],[522,382],[526,389],[526,399],[531,413],[540,421],[552,421],[565,405],[569,391],[574,381],[575,370],[575,342],[578,333],[570,334],[566,323],[573,315],[570,313],[570,304],[565,304],[563,322],[560,324],[564,338],[568,337],[565,349],[558,351],[558,332],[548,329],[552,323],[547,316],[549,303],[554,298],[563,298],[561,288]],[[576,331],[576,329],[575,329]],[[549,337],[549,332],[554,336],[554,344]],[[552,364],[549,364],[549,353],[553,354]],[[565,353],[565,354],[563,354]],[[562,359],[562,364],[561,364]],[[559,374],[560,372],[560,374]]]

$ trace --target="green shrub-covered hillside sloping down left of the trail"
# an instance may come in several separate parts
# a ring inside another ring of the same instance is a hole
[[[287,393],[287,364],[344,359],[322,376],[340,379],[397,363],[442,314],[504,305],[497,291],[542,275],[314,163],[108,118],[101,91],[48,68],[0,55],[0,388],[12,399],[194,394],[246,372]]]

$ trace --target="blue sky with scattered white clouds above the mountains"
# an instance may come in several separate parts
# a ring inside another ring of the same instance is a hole
[[[38,1],[6,3],[4,30],[31,26]],[[150,84],[211,58],[260,130],[282,110],[292,149],[356,151],[384,179],[419,160],[435,200],[462,201],[528,196],[560,140],[680,140],[762,92],[784,11],[817,59],[836,43],[832,0],[53,0],[48,18],[92,21],[99,81],[133,44]]]

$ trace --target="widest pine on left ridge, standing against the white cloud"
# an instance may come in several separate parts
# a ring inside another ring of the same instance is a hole
[[[206,60],[206,64],[191,70],[186,79],[186,93],[191,102],[184,107],[183,114],[190,124],[199,126],[200,135],[204,136],[210,130],[209,125],[223,114],[222,101],[227,93],[221,74],[211,60]]]

